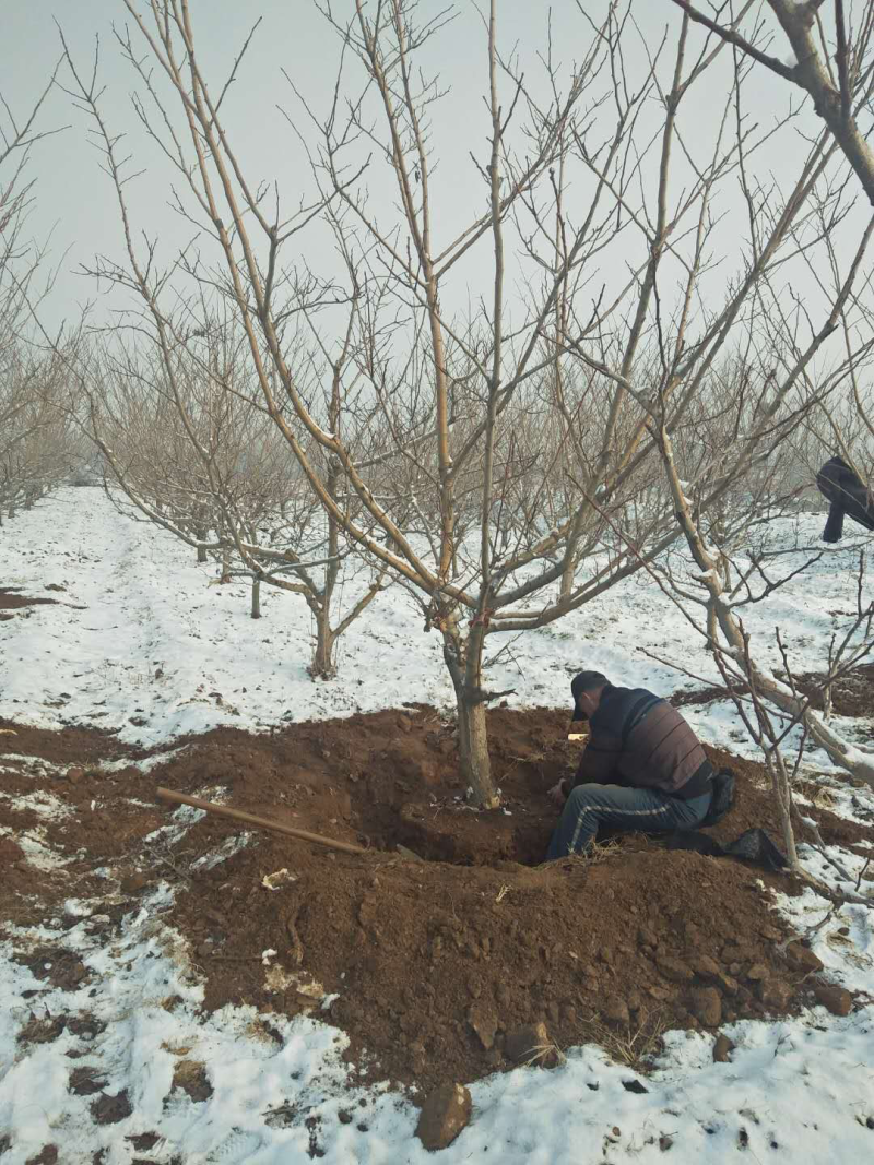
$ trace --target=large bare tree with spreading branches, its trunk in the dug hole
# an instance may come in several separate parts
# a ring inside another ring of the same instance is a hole
[[[488,637],[595,600],[681,536],[676,496],[656,482],[660,452],[665,437],[720,415],[732,360],[755,391],[735,409],[731,457],[700,444],[689,454],[696,518],[741,488],[827,391],[803,373],[834,330],[839,291],[823,296],[823,320],[797,352],[783,273],[816,266],[824,209],[846,213],[840,150],[824,132],[796,174],[773,179],[768,146],[798,114],[759,129],[745,107],[749,63],[716,34],[696,38],[690,14],[672,43],[650,45],[633,2],[605,2],[598,23],[580,6],[582,59],[563,77],[550,50],[535,82],[501,55],[492,3],[487,148],[465,176],[473,211],[449,233],[434,149],[443,93],[428,69],[450,14],[358,0],[347,17],[322,9],[343,62],[324,115],[296,93],[304,112],[290,121],[298,136],[309,123],[316,185],[289,217],[279,191],[268,209],[267,188],[249,184],[224,121],[230,82],[213,91],[203,75],[188,0],[124,3],[132,24],[118,38],[140,77],[136,112],[179,178],[181,213],[218,252],[214,266],[185,252],[160,275],[151,249],[139,262],[118,139],[96,79],[70,62],[119,192],[126,277],[149,289],[160,343],[174,351],[190,341],[162,306],[169,284],[176,302],[183,277],[224,296],[309,489],[442,635],[463,776],[493,806],[485,707],[503,693],[486,687]],[[712,94],[711,73],[724,100],[693,147],[684,114],[699,114],[690,106],[703,78]],[[393,200],[365,185],[378,163]],[[745,230],[732,235],[733,274],[717,274],[719,199],[735,183]],[[330,278],[294,250],[316,221],[337,241]],[[487,290],[459,292],[465,277]],[[788,353],[780,370],[775,346]]]

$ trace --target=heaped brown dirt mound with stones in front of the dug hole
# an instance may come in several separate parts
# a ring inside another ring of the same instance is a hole
[[[280,867],[296,881],[266,890]],[[656,849],[492,869],[268,841],[195,878],[175,920],[207,1007],[296,1014],[316,980],[339,995],[330,1018],[353,1061],[425,1086],[502,1066],[522,1024],[545,1022],[559,1046],[601,1026],[713,1026],[787,1010],[804,977],[749,870]],[[262,966],[269,949],[281,974]]]

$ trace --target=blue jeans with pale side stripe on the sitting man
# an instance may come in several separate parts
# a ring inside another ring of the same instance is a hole
[[[657,789],[625,785],[577,785],[552,833],[547,861],[585,853],[602,825],[637,833],[695,829],[710,810],[712,793],[683,800]]]

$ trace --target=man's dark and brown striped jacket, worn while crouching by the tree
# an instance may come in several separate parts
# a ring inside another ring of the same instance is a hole
[[[713,769],[676,708],[644,687],[601,692],[571,788],[597,783],[658,789],[688,800],[710,789]]]

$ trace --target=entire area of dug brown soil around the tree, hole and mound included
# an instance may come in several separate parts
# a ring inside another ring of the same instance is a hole
[[[595,1038],[627,1054],[633,1043],[653,1046],[665,1026],[790,1011],[816,960],[780,952],[784,929],[762,889],[791,891],[789,878],[637,835],[592,859],[536,868],[556,819],[547,790],[578,756],[566,721],[563,711],[489,713],[503,806],[491,813],[466,805],[452,727],[422,707],[261,736],[221,728],[147,776],[133,767],[101,774],[101,744],[125,750],[97,733],[21,729],[0,736],[0,751],[55,758],[66,739],[79,762],[59,778],[22,771],[16,785],[50,788],[72,811],[44,826],[52,845],[76,855],[63,890],[42,877],[47,903],[69,896],[75,878],[87,883],[77,894],[97,892],[92,869],[107,862],[117,877],[103,892],[118,889],[124,899],[106,911],[115,927],[139,894],[170,878],[172,920],[204,975],[207,1008],[319,1015],[313,997],[336,995],[325,1018],[348,1033],[350,1059],[375,1076],[424,1087],[477,1079],[512,1064],[508,1037],[538,1022],[558,1046]],[[738,774],[735,811],[714,835],[761,826],[780,843],[761,768],[710,753]],[[158,784],[220,790],[226,804],[368,853],[253,832],[246,848],[211,866],[239,826],[207,816],[176,847],[148,840],[170,820],[153,805]],[[0,824],[5,812],[0,802]],[[811,812],[826,841],[874,836],[822,807]],[[424,860],[399,855],[399,842]],[[265,876],[282,869],[279,889],[267,889]],[[0,899],[13,892],[0,888]]]

